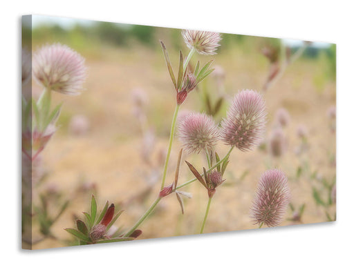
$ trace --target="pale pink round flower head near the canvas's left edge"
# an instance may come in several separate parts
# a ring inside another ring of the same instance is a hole
[[[33,57],[33,75],[44,87],[66,95],[79,95],[86,78],[84,58],[62,44],[47,45]]]

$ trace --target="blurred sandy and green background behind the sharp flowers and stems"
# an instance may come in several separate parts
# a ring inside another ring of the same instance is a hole
[[[24,46],[32,52],[59,42],[79,52],[88,68],[82,95],[53,93],[53,101],[64,104],[57,133],[43,152],[46,177],[41,189],[71,198],[53,226],[63,240],[71,239],[63,229],[73,227],[75,218],[88,210],[92,193],[99,208],[109,200],[124,209],[117,222],[123,229],[130,228],[158,194],[176,97],[159,40],[176,72],[178,50],[185,56],[189,52],[180,32],[44,16],[32,16],[32,28],[23,28]],[[249,217],[257,180],[274,167],[286,173],[292,193],[282,225],[333,221],[335,45],[230,34],[222,38],[217,55],[192,58],[193,65],[214,59],[216,70],[189,94],[180,115],[201,111],[221,121],[234,95],[252,89],[265,98],[268,123],[259,148],[232,153],[205,233],[257,228]],[[292,61],[299,49],[303,52]],[[281,59],[288,62],[286,68]],[[34,81],[31,92],[33,97],[41,93]],[[174,179],[179,149],[176,139],[167,184]],[[216,150],[223,157],[228,148],[220,143]],[[206,164],[201,155],[185,159],[200,168]],[[180,184],[192,178],[182,164]],[[166,197],[140,227],[139,239],[198,233],[207,193],[197,182],[183,190],[193,195],[184,199],[185,214],[175,196]],[[55,246],[63,242],[46,239],[35,248]]]

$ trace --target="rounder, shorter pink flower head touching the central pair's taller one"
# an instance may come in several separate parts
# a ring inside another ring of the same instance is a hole
[[[218,127],[212,117],[204,113],[192,112],[178,124],[178,137],[187,153],[213,150],[218,141]]]

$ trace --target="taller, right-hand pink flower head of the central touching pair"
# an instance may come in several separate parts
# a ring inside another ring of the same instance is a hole
[[[241,151],[252,150],[262,140],[265,115],[265,102],[258,92],[239,92],[221,121],[221,139]]]

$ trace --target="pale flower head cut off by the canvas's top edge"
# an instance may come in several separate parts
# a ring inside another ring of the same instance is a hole
[[[196,49],[201,55],[216,55],[221,36],[217,32],[183,30],[182,37],[189,49]]]

